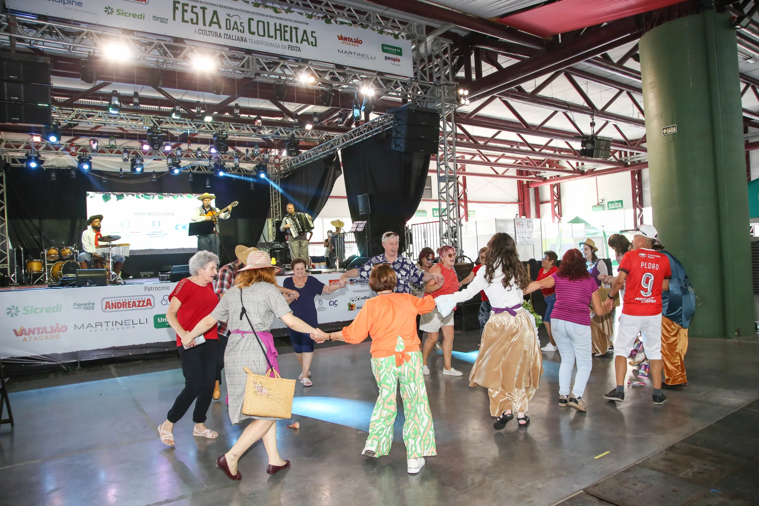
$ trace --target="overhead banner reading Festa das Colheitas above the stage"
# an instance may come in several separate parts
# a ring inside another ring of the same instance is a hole
[[[248,0],[6,0],[8,8],[411,77],[411,42]],[[202,51],[202,49],[200,49]]]

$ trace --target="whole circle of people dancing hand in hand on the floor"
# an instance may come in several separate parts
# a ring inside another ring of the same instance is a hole
[[[479,265],[461,281],[453,269],[456,252],[452,247],[437,251],[439,263],[433,264],[433,250],[425,249],[419,263],[414,264],[398,255],[398,242],[398,234],[386,232],[382,254],[371,257],[359,269],[342,273],[338,284],[331,286],[307,275],[304,260],[296,256],[291,265],[294,275],[280,287],[276,274],[281,269],[272,265],[269,253],[238,246],[235,261],[219,269],[214,288],[219,258],[207,250],[198,251],[189,262],[191,276],[179,281],[169,296],[167,319],[176,332],[185,383],[166,420],[158,426],[160,440],[168,446],[176,444],[174,425],[193,402],[193,436],[219,438],[205,421],[212,399],[220,398],[223,369],[231,423],[252,421],[235,444],[216,459],[217,467],[229,479],[242,479],[239,460],[259,439],[268,457],[266,473],[272,475],[290,467],[290,460],[283,459],[277,448],[276,421],[282,419],[243,413],[249,372],[279,377],[270,328],[274,319],[280,319],[290,329],[301,367],[298,380],[304,387],[313,385],[310,366],[314,344],[358,344],[371,336],[370,362],[379,394],[361,455],[379,458],[389,454],[399,386],[405,414],[402,437],[407,471],[419,473],[426,464],[425,457],[436,455],[435,428],[424,383],[430,374],[427,358],[442,330],[442,375],[462,376],[451,366],[452,311],[457,303],[477,294],[483,295],[480,344],[469,385],[487,389],[496,430],[504,429],[514,418],[517,430],[530,425],[528,407],[540,386],[543,357],[539,321],[525,296],[537,290],[543,291],[548,302],[546,331],[561,357],[559,407],[588,410],[585,387],[592,357],[599,349],[593,322],[598,319],[598,325],[605,325],[603,319],[609,318],[619,295],[623,305],[613,347],[616,385],[604,398],[624,401],[631,354],[644,354],[650,362],[653,404],[666,402],[662,388],[688,385],[683,359],[694,313],[694,291],[682,264],[658,243],[652,225],[637,228],[631,244],[619,234],[609,237],[609,246],[619,262],[616,276],[598,267],[591,240],[580,244],[583,250],[568,250],[560,262],[556,253],[546,251],[535,281],[529,279],[509,234],[493,235],[480,250]],[[315,297],[345,288],[349,278],[366,280],[376,297],[364,303],[350,325],[339,332],[323,332],[317,325]],[[468,286],[459,291],[461,284]],[[609,287],[605,293],[600,293],[602,284]],[[418,329],[427,332],[424,344]],[[610,339],[607,341],[611,344]],[[571,385],[575,365],[577,373]]]

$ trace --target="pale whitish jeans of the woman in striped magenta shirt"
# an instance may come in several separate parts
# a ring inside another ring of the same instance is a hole
[[[562,363],[559,366],[559,395],[568,395],[572,391],[576,397],[582,397],[593,368],[591,325],[580,325],[553,317],[551,332],[553,332],[553,341],[556,341],[556,347],[559,348],[559,354],[562,356]],[[577,376],[575,376],[574,388],[570,389],[575,360],[577,361]]]

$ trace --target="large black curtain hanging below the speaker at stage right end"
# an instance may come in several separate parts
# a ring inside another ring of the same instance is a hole
[[[419,207],[430,168],[430,155],[393,151],[390,143],[389,136],[378,135],[342,149],[345,190],[354,222],[366,219],[358,214],[358,196],[369,194],[368,256],[383,252],[382,234],[387,231],[400,236],[400,249],[405,251],[405,225]],[[356,235],[362,256],[367,256],[365,235]]]

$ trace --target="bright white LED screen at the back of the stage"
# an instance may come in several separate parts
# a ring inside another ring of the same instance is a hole
[[[87,192],[87,215],[103,215],[102,233],[120,235],[133,255],[197,250],[187,225],[200,205],[191,193]]]

